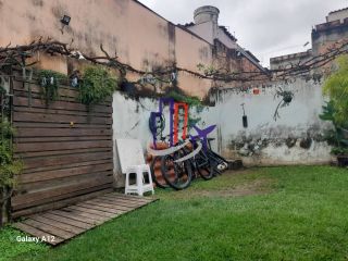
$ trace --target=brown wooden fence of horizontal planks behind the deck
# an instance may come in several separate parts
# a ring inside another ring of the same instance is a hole
[[[40,87],[13,83],[15,157],[24,163],[11,199],[12,217],[64,207],[110,191],[113,182],[112,103],[89,112],[78,90],[60,87],[46,105]]]

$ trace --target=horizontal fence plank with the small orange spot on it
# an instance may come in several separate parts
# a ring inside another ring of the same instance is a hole
[[[13,113],[13,122],[35,122],[35,123],[80,123],[80,124],[101,124],[111,125],[112,117],[99,116],[77,116],[64,114],[15,112]]]

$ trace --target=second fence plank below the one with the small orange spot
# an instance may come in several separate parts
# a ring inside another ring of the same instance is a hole
[[[112,140],[18,144],[16,146],[15,152],[17,153],[30,151],[70,150],[85,148],[112,148]]]

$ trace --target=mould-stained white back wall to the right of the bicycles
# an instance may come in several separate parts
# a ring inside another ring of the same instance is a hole
[[[282,87],[295,97],[288,107],[279,109],[281,119],[273,115],[281,98],[274,98]],[[216,105],[204,115],[217,119],[221,152],[227,158],[241,157],[247,165],[313,164],[331,161],[330,147],[323,132],[331,125],[319,119],[323,104],[320,85],[296,79],[289,85],[271,84],[252,90],[220,90]],[[245,103],[248,128],[243,127],[241,103]]]

